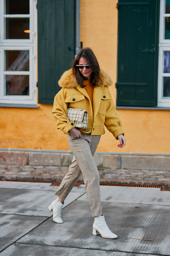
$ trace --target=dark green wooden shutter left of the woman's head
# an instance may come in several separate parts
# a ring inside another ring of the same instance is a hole
[[[38,103],[52,104],[74,60],[74,0],[38,0]]]

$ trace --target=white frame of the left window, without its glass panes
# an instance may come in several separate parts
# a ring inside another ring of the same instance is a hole
[[[13,0],[15,1],[15,0]],[[5,15],[5,0],[0,0],[0,104],[37,104],[37,8],[30,0],[30,14]],[[5,39],[5,18],[30,18],[30,39]],[[5,50],[29,50],[29,71],[5,71]],[[29,75],[29,95],[5,95],[5,75]]]

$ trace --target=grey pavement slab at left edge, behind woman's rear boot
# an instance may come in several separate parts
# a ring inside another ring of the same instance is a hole
[[[66,207],[86,193],[85,189],[81,190],[81,193],[76,193],[75,190],[71,192],[67,196],[63,207]],[[0,212],[3,214],[10,213],[44,217],[51,217],[53,215],[53,212],[48,211],[49,204],[56,199],[53,191],[0,188],[0,194]]]

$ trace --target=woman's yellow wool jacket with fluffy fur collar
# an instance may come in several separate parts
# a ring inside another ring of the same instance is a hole
[[[54,98],[53,116],[57,123],[57,129],[64,133],[75,127],[66,117],[67,107],[84,109],[88,111],[88,132],[91,135],[102,135],[105,133],[104,125],[114,135],[124,134],[120,118],[118,118],[116,108],[109,92],[108,86],[113,84],[111,77],[104,70],[100,71],[103,80],[101,86],[94,87],[93,107],[88,93],[76,81],[72,69],[64,72],[58,84],[62,87]]]

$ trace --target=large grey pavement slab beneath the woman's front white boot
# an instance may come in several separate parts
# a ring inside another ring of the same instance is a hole
[[[49,218],[17,242],[133,253],[133,256],[134,253],[170,255],[170,206],[114,202],[102,202],[102,206],[106,222],[118,235],[117,239],[92,236],[94,219],[90,217],[89,202],[77,200],[63,209],[63,224],[57,224]],[[141,241],[130,237],[153,241]]]

